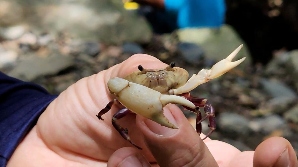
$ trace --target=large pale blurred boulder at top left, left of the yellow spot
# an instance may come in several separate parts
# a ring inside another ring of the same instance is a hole
[[[149,42],[152,36],[147,21],[125,10],[122,1],[41,3],[35,10],[37,18],[41,18],[38,26],[54,34],[64,31],[74,38],[110,44],[123,41]]]

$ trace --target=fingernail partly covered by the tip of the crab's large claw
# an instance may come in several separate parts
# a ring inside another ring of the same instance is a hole
[[[172,112],[170,111],[170,109],[168,107],[164,107],[164,116],[166,116],[171,123],[178,126]],[[150,119],[145,119],[144,122],[153,133],[158,134],[158,135],[171,136],[177,132],[177,129],[171,129],[171,128],[159,125],[158,123],[156,123]]]

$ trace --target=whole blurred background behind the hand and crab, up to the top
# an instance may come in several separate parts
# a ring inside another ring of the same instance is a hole
[[[175,62],[192,75],[243,44],[235,58],[246,56],[242,64],[191,92],[215,107],[210,137],[244,151],[282,136],[297,154],[297,0],[222,0],[210,10],[203,3],[206,17],[190,10],[190,18],[181,14],[183,4],[173,10],[167,0],[136,2],[0,0],[0,71],[59,94],[135,53]],[[207,19],[192,24],[196,17]],[[185,115],[194,125],[195,115]]]

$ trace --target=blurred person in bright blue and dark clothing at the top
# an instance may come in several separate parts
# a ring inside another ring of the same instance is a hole
[[[224,0],[134,0],[139,12],[152,24],[157,33],[167,33],[186,27],[220,27],[225,18]]]

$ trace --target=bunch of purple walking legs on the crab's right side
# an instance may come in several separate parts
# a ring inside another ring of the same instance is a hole
[[[216,123],[215,123],[215,110],[212,107],[212,105],[210,104],[210,102],[205,99],[205,98],[200,98],[200,97],[193,97],[190,95],[190,93],[183,93],[183,94],[179,94],[180,96],[185,97],[187,100],[191,101],[193,104],[195,104],[195,106],[199,106],[199,107],[204,107],[204,113],[205,116],[202,118],[201,117],[201,113],[199,111],[193,111],[193,109],[188,108],[188,107],[184,107],[187,110],[193,111],[195,113],[200,113],[197,115],[197,119],[196,119],[196,130],[197,133],[200,135],[202,132],[202,125],[201,123],[209,118],[209,127],[210,127],[210,131],[209,133],[203,138],[203,140],[205,140],[207,137],[209,137],[211,135],[212,132],[214,132],[215,128],[216,128]]]

